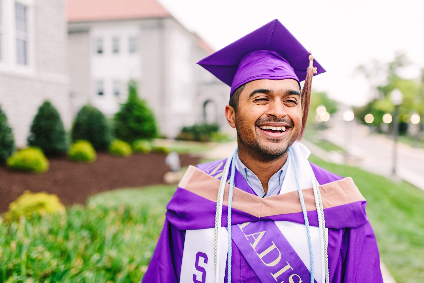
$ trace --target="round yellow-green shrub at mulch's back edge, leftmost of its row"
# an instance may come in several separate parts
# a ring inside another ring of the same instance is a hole
[[[34,173],[42,173],[49,168],[49,162],[43,152],[34,147],[15,152],[7,159],[7,165],[14,170]]]

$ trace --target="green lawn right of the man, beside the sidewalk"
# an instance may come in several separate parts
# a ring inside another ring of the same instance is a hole
[[[424,282],[424,192],[358,168],[309,160],[340,176],[352,177],[367,199],[382,261],[398,283]]]

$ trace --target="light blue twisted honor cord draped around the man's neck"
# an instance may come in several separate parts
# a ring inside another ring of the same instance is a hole
[[[308,237],[308,246],[309,246],[309,254],[310,254],[310,260],[311,260],[311,283],[314,283],[314,254],[312,252],[312,240],[311,240],[311,234],[309,230],[309,220],[306,212],[305,207],[305,201],[303,199],[303,193],[300,188],[300,182],[299,182],[299,176],[297,173],[296,164],[294,162],[293,152],[289,148],[290,158],[293,163],[293,171],[296,178],[296,184],[297,184],[297,191],[299,194],[300,204],[302,207],[303,217],[305,220],[305,226],[306,226],[306,234]],[[230,188],[228,193],[228,212],[227,212],[227,230],[228,230],[228,254],[227,254],[227,282],[231,283],[231,270],[232,270],[232,234],[231,234],[231,226],[232,226],[232,218],[231,218],[231,210],[232,210],[232,200],[233,200],[233,190],[234,190],[234,176],[235,176],[235,169],[236,169],[236,157],[237,157],[237,149],[234,151],[234,155],[231,162],[231,175],[230,175]]]

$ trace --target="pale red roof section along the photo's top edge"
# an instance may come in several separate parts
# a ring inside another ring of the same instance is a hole
[[[156,0],[67,0],[68,22],[168,17]]]

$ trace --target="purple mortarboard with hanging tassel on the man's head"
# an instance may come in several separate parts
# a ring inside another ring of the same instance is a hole
[[[230,95],[237,87],[258,79],[293,78],[299,83],[305,80],[302,91],[303,133],[309,111],[312,76],[325,72],[318,62],[314,62],[314,67],[312,62],[310,52],[275,19],[198,64],[228,84]]]

